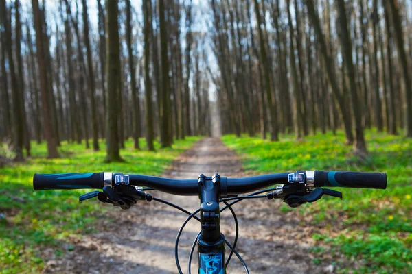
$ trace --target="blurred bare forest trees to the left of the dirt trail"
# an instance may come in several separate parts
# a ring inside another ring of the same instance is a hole
[[[91,0],[0,0],[0,138],[15,160],[30,155],[30,140],[47,140],[56,158],[62,140],[98,151],[106,138],[106,160],[117,161],[130,137],[140,149],[146,136],[154,150],[156,137],[170,147],[210,134],[204,34],[192,33],[192,1],[93,1],[95,29]]]

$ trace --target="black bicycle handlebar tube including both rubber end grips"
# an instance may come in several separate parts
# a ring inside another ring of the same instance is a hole
[[[275,184],[287,184],[289,173],[275,173],[243,178],[220,177],[222,196],[238,195],[260,190]],[[146,175],[130,174],[129,184],[147,186],[173,195],[198,195],[198,179],[169,179]],[[62,190],[80,188],[100,188],[112,185],[115,174],[100,173],[60,173],[34,174],[34,190]],[[386,173],[366,173],[354,171],[306,171],[305,183],[308,188],[338,186],[349,188],[378,188],[387,186]]]

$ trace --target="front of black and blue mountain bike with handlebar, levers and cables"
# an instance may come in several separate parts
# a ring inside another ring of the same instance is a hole
[[[198,179],[168,179],[111,172],[61,173],[34,174],[33,187],[34,190],[101,189],[102,191],[81,195],[80,203],[97,197],[103,203],[110,203],[124,210],[135,205],[137,201],[157,201],[181,210],[189,216],[179,229],[174,245],[179,273],[183,273],[179,263],[179,239],[187,222],[196,219],[201,224],[201,231],[190,249],[187,272],[191,273],[192,256],[197,245],[198,273],[224,274],[233,253],[242,263],[246,273],[249,273],[247,264],[236,251],[238,219],[232,208],[233,204],[245,199],[282,199],[288,206],[296,208],[304,203],[313,203],[323,195],[342,199],[341,192],[323,187],[386,189],[387,175],[353,171],[297,171],[243,178],[220,177],[216,173],[211,177],[201,174]],[[189,212],[150,195],[148,193],[150,190],[159,190],[172,195],[198,196],[200,207],[194,212]],[[220,208],[220,203],[224,203],[225,206]],[[233,245],[220,233],[220,214],[227,209],[233,214],[236,225]],[[225,245],[231,250],[227,260]]]

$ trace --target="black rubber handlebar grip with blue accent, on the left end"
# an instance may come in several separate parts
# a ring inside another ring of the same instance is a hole
[[[34,190],[103,188],[104,172],[34,174]]]

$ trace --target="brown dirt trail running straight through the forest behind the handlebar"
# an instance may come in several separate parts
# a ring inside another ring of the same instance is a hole
[[[218,138],[205,138],[174,161],[172,168],[163,176],[183,179],[196,178],[199,173],[210,176],[216,172],[227,177],[244,175],[235,153]],[[172,196],[160,192],[152,192],[152,195],[190,211],[198,208],[197,197]],[[237,250],[251,273],[328,271],[327,265],[312,263],[314,257],[308,252],[311,247],[310,235],[305,235],[308,230],[299,228],[299,219],[285,219],[285,214],[278,214],[273,201],[243,201],[233,206],[233,209],[238,215],[240,226]],[[186,217],[174,208],[155,201],[140,202],[131,210],[117,210],[113,216],[115,222],[104,221],[101,224],[104,231],[84,236],[65,258],[49,261],[43,272],[177,273],[174,241]],[[184,273],[187,273],[188,253],[199,229],[198,222],[193,220],[182,234],[179,256]],[[222,214],[221,229],[227,240],[233,242],[234,224],[229,210]],[[306,240],[301,241],[302,238]],[[197,273],[196,266],[195,255],[192,273]],[[244,273],[237,258],[232,259],[227,271]],[[329,271],[332,271],[330,267]]]

